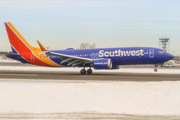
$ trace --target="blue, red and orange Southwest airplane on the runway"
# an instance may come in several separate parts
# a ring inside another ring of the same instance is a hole
[[[80,74],[92,74],[92,69],[119,69],[120,65],[154,64],[157,66],[174,56],[154,47],[118,47],[96,49],[47,50],[31,46],[11,22],[5,22],[12,52],[3,52],[8,58],[45,67],[83,67]],[[86,67],[89,69],[86,71]]]

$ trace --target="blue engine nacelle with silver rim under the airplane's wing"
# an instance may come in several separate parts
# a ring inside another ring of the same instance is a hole
[[[94,69],[111,69],[112,68],[112,61],[111,59],[104,58],[95,60],[93,62]]]

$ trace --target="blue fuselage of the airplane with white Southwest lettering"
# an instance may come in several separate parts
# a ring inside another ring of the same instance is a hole
[[[121,48],[98,48],[98,49],[76,49],[76,50],[51,50],[60,54],[76,57],[103,59],[109,58],[113,65],[132,64],[158,64],[172,59],[174,56],[164,53],[162,49],[153,47],[121,47]],[[51,60],[60,64],[61,59],[46,54]],[[62,65],[67,65],[63,63]]]

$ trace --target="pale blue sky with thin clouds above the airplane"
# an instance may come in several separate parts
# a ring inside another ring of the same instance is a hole
[[[9,51],[4,22],[24,38],[49,49],[159,47],[170,38],[170,53],[180,55],[179,0],[0,0],[0,51]]]

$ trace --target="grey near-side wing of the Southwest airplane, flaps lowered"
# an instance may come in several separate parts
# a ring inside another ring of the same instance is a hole
[[[91,64],[93,62],[92,59],[89,58],[83,58],[83,57],[76,57],[76,56],[71,56],[71,55],[66,55],[66,54],[61,54],[61,53],[56,53],[56,52],[50,52],[47,51],[47,54],[54,55],[60,57],[62,60],[62,63],[69,62],[68,66],[77,66],[80,64]]]

